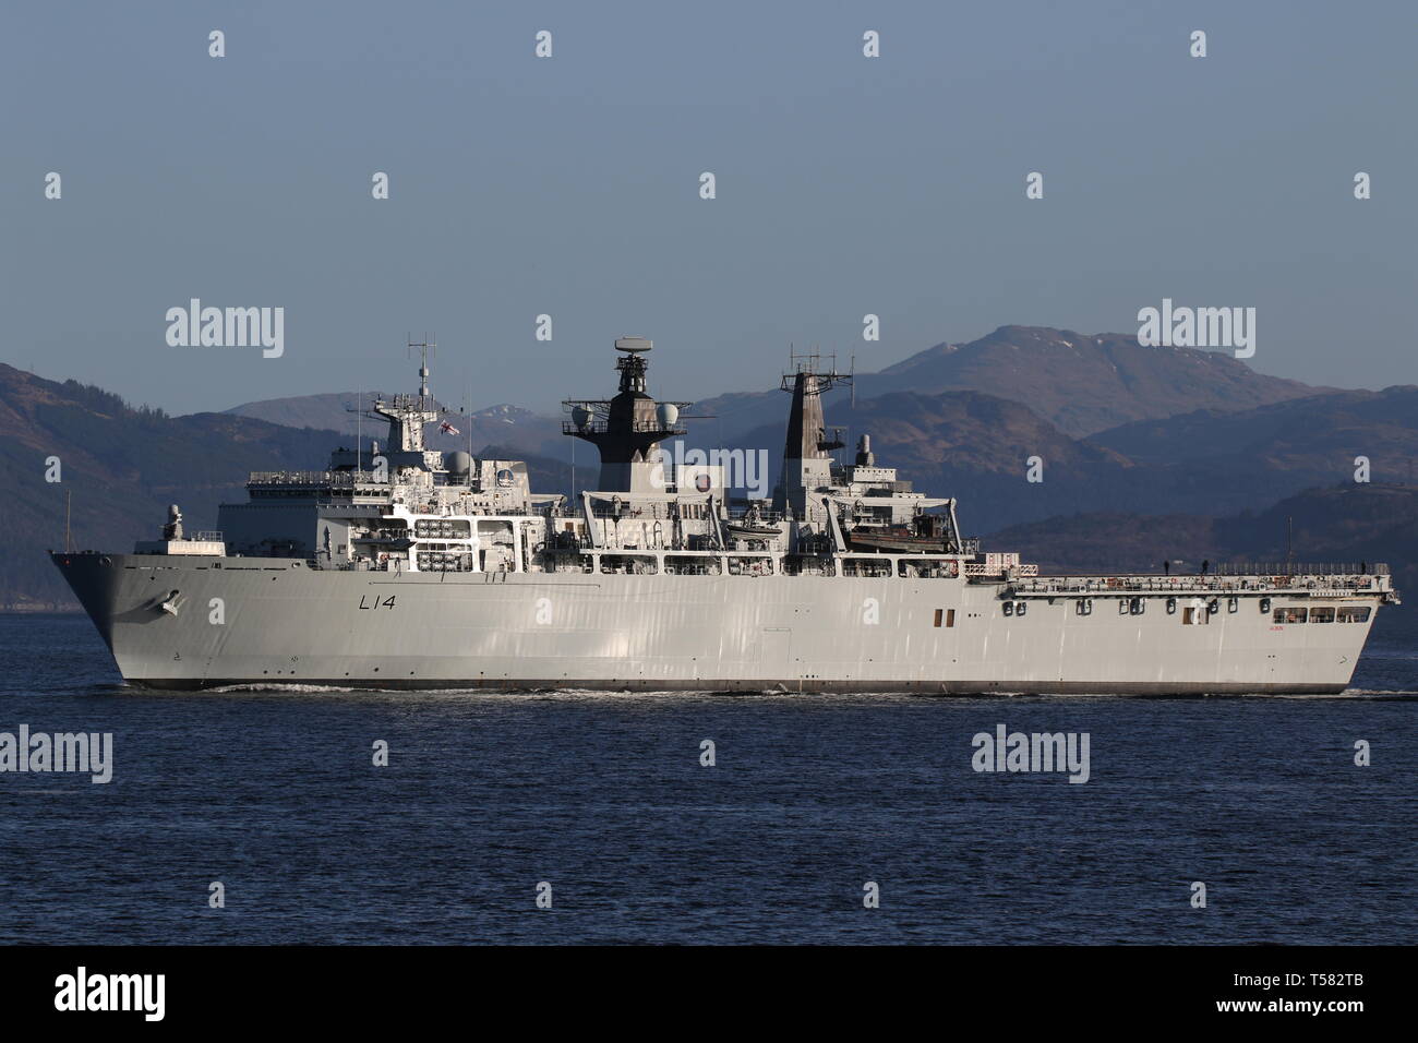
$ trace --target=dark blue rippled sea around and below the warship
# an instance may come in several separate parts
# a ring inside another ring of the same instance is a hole
[[[152,694],[84,616],[0,666],[0,731],[115,744],[0,773],[0,942],[1418,941],[1411,607],[1323,698]],[[998,724],[1089,780],[973,771]]]

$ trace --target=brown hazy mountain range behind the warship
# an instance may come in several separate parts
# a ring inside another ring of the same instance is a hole
[[[651,392],[674,396],[654,379]],[[68,494],[75,546],[150,536],[169,502],[183,507],[190,528],[214,528],[216,505],[244,498],[247,471],[322,467],[357,426],[366,440],[383,437],[381,421],[349,412],[360,403],[367,413],[369,400],[343,392],[169,417],[0,363],[0,474],[11,491],[0,605],[67,602],[43,549],[62,545]],[[695,403],[688,413],[713,419],[691,420],[686,441],[763,450],[776,475],[787,406],[777,389]],[[1124,559],[1117,565],[1195,556],[1163,545],[1212,559],[1273,553],[1268,512],[1285,500],[1286,517],[1303,508],[1329,518],[1313,526],[1316,546],[1374,545],[1400,556],[1402,526],[1418,517],[1414,386],[1310,387],[1215,352],[1001,326],[856,375],[854,394],[830,393],[825,410],[828,426],[845,429],[848,456],[869,433],[879,463],[920,491],[959,497],[968,532],[1059,566],[1102,568],[1105,552]],[[525,458],[537,488],[570,491],[573,440],[559,417],[498,404],[450,419],[459,434],[430,430],[432,447]],[[44,481],[52,456],[61,484]],[[1025,478],[1031,457],[1042,461],[1039,482]],[[1360,457],[1370,485],[1354,482]],[[581,447],[580,484],[594,464]],[[1363,514],[1363,524],[1346,529],[1344,511]]]

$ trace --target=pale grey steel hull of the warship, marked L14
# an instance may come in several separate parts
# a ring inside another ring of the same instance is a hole
[[[1116,600],[1098,596],[1079,616],[1075,599],[1059,596],[1007,617],[998,586],[960,579],[398,575],[157,555],[55,562],[122,675],[179,690],[1339,692],[1373,622],[1273,624],[1256,595],[1204,626],[1166,613],[1157,596],[1143,614],[1117,614]],[[1327,603],[1377,609],[1378,596]]]

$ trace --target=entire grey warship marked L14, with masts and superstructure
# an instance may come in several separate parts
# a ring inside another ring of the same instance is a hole
[[[651,342],[615,342],[618,393],[569,400],[597,488],[535,492],[516,460],[427,448],[428,389],[380,399],[377,446],[322,471],[254,473],[220,531],[132,553],[51,552],[123,678],[495,691],[1341,692],[1388,570],[1235,565],[1212,575],[1039,575],[961,536],[956,500],[838,460],[797,356],[771,498],[666,464],[681,407],[647,390]]]

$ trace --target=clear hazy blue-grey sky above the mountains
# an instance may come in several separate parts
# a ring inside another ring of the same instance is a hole
[[[1409,383],[1415,31],[1407,0],[10,0],[0,359],[193,412],[403,387],[427,329],[440,397],[546,409],[610,392],[624,333],[698,399],[790,341],[869,370],[1170,297],[1255,307],[1262,372]],[[193,297],[284,307],[285,355],[167,346]]]

